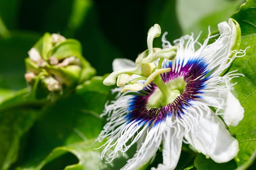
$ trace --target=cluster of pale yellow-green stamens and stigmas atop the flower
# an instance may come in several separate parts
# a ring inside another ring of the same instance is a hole
[[[124,89],[121,92],[127,90],[140,91],[143,89],[143,87],[141,87],[140,83],[136,84],[137,81],[146,79],[144,86],[148,86],[150,82],[153,82],[155,77],[160,77],[160,74],[169,72],[171,68],[162,68],[162,62],[164,59],[174,60],[178,47],[170,46],[165,49],[153,48],[153,40],[154,38],[159,37],[160,34],[161,28],[158,24],[155,24],[153,27],[151,27],[148,31],[147,37],[148,50],[144,51],[137,57],[135,60],[135,64],[137,66],[133,68],[119,69],[112,72],[106,79],[104,79],[103,84],[110,86],[117,83],[117,86],[119,87],[124,86]],[[154,62],[158,59],[159,64],[156,66]],[[128,82],[133,74],[140,75],[141,77],[136,77],[135,79]],[[127,82],[128,84],[126,85]]]

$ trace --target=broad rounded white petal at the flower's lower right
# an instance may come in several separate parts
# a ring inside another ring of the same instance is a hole
[[[190,132],[185,132],[184,137],[198,152],[217,163],[230,161],[238,153],[238,141],[214,113],[208,117],[204,113],[197,122],[193,122]]]

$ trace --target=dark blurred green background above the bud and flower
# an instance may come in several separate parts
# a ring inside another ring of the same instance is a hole
[[[135,60],[158,23],[173,41],[227,20],[244,0],[0,0],[0,88],[26,87],[24,58],[45,32],[75,38],[98,75],[112,60]],[[202,36],[202,37],[203,37]],[[155,46],[161,47],[160,38]],[[13,81],[15,80],[15,81]]]

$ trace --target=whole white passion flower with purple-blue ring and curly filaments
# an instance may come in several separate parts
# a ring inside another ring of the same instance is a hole
[[[102,114],[108,115],[108,123],[97,139],[107,139],[101,157],[112,161],[119,152],[124,153],[137,143],[136,154],[121,169],[137,170],[150,161],[162,144],[163,163],[152,170],[173,170],[184,139],[217,163],[236,157],[238,141],[226,126],[236,126],[243,119],[243,107],[231,93],[234,84],[230,83],[241,74],[232,71],[220,76],[238,54],[245,54],[243,50],[231,51],[236,27],[231,19],[220,23],[220,37],[209,45],[209,39],[216,35],[209,33],[203,44],[197,41],[199,36],[194,40],[193,35],[185,35],[171,46],[164,33],[161,50],[153,48],[153,39],[161,33],[155,25],[148,32],[148,50],[138,56],[136,64],[115,60],[113,66],[119,69],[104,84],[115,84],[120,75],[132,77],[123,79],[122,86],[128,82],[124,88],[113,90],[119,92],[116,100],[106,104]],[[141,82],[142,90],[137,88]],[[126,92],[121,93],[122,89]],[[109,153],[110,148],[113,150]]]

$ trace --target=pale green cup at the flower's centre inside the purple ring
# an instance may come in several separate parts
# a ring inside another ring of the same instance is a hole
[[[167,88],[163,91],[157,88],[149,97],[147,109],[162,108],[163,106],[172,103],[180,94],[183,93],[186,83],[183,77],[178,77],[165,84]],[[163,93],[165,93],[163,95]]]

